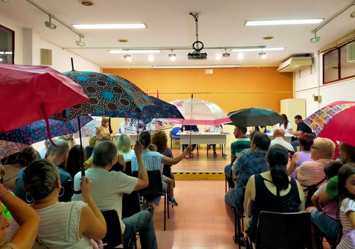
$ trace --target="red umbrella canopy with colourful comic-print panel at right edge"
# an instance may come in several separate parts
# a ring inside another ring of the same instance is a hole
[[[353,124],[355,122],[355,102],[337,101],[313,113],[304,121],[317,134],[355,146]]]

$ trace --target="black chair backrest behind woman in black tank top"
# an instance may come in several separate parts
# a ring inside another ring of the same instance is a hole
[[[255,246],[256,249],[311,249],[310,213],[260,212]]]

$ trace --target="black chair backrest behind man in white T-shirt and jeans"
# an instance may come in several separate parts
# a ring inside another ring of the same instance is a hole
[[[107,247],[115,248],[123,243],[120,218],[116,210],[101,211],[106,221],[107,233],[102,239]],[[105,246],[106,248],[106,246]]]

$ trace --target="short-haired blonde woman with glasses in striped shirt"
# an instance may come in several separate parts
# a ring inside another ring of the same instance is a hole
[[[319,188],[323,183],[328,182],[324,166],[333,161],[334,150],[335,144],[328,138],[316,138],[313,141],[311,159],[314,161],[306,161],[295,169],[297,180],[304,190],[313,186]],[[307,195],[308,190],[305,191],[305,200],[307,200]]]

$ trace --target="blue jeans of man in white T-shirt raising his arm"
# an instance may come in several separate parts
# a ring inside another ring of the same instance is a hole
[[[139,232],[142,249],[158,248],[151,213],[148,211],[141,211],[131,217],[122,219],[122,222],[126,225],[125,232],[123,233],[124,239]]]

